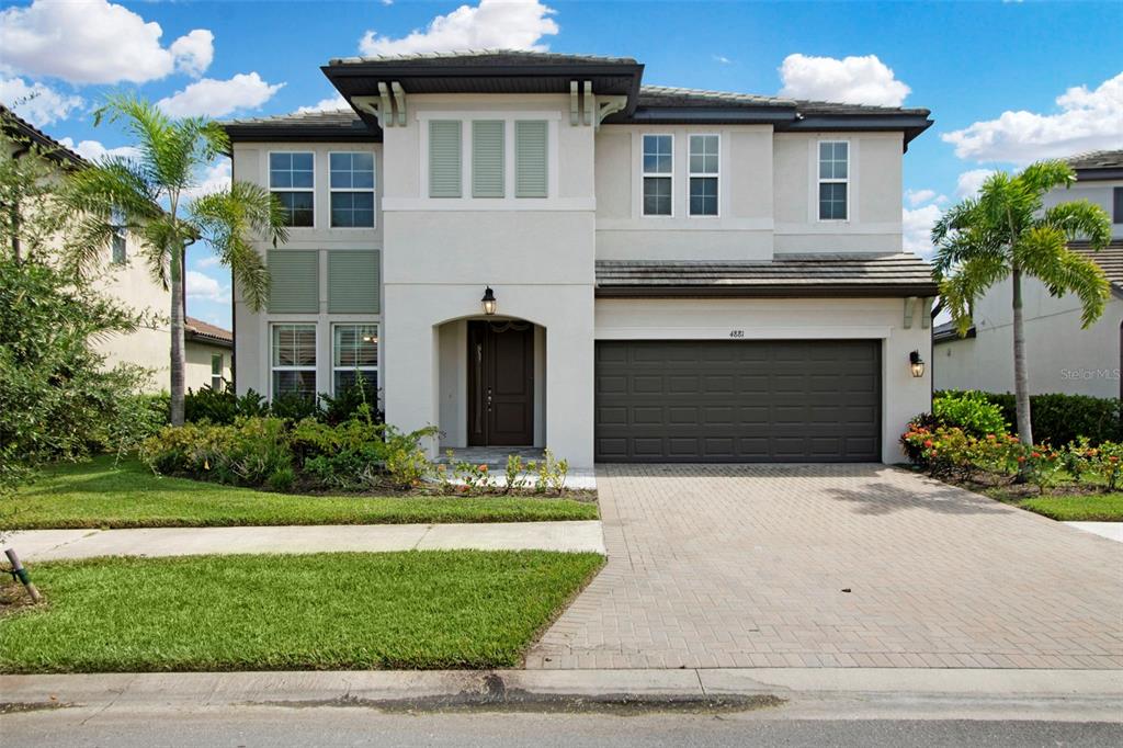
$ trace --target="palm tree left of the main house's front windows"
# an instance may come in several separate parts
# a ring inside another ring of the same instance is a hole
[[[189,245],[209,243],[230,268],[246,303],[254,310],[268,297],[268,272],[255,238],[274,245],[287,239],[284,212],[264,188],[232,182],[229,188],[193,197],[198,175],[229,150],[222,128],[206,118],[171,119],[157,107],[131,95],[110,97],[94,113],[94,125],[121,121],[136,142],[136,155],[111,156],[71,174],[64,190],[76,224],[66,248],[79,274],[99,265],[115,234],[139,239],[153,277],[172,292],[172,423],[183,423],[183,279]]]

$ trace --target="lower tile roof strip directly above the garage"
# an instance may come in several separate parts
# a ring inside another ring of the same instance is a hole
[[[599,295],[934,297],[916,255],[778,255],[772,262],[600,261]]]

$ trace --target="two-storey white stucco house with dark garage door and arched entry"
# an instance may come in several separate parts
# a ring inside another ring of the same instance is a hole
[[[441,447],[597,462],[898,462],[930,407],[902,253],[925,109],[645,86],[633,60],[332,60],[353,110],[232,121],[289,211],[235,298],[238,392],[334,392]],[[494,300],[493,300],[494,299]],[[436,447],[435,447],[436,449]]]

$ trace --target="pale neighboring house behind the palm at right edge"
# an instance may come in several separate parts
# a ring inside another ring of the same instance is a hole
[[[1062,392],[1096,398],[1121,396],[1123,367],[1123,150],[1099,150],[1074,156],[1069,163],[1077,181],[1068,190],[1053,190],[1044,204],[1090,200],[1112,219],[1112,241],[1098,253],[1087,243],[1072,248],[1093,257],[1112,284],[1104,316],[1088,329],[1080,328],[1080,302],[1075,295],[1056,298],[1040,282],[1023,284],[1025,356],[1032,394]],[[971,310],[973,325],[960,338],[951,325],[934,334],[933,375],[938,390],[1014,391],[1014,335],[1011,284],[1001,283]]]

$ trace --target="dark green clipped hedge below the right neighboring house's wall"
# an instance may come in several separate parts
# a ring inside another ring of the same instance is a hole
[[[938,392],[933,399],[957,394]],[[986,399],[1002,409],[1002,417],[1011,427],[1017,423],[1014,395],[986,392]],[[1088,395],[1039,394],[1030,396],[1033,440],[1039,444],[1067,445],[1080,437],[1092,444],[1123,441],[1123,410],[1116,398]]]

